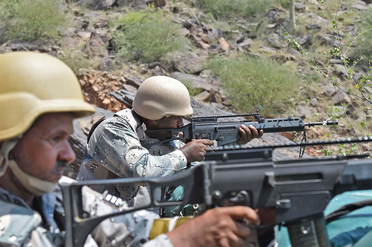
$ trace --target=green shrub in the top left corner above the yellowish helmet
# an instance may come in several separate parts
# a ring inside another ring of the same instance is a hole
[[[67,21],[57,0],[1,0],[1,40],[34,40],[58,35]]]

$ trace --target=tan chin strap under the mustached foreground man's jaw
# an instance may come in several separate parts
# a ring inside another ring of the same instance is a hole
[[[17,162],[13,159],[9,160],[8,165],[18,181],[33,195],[41,196],[46,193],[51,193],[57,186],[57,183],[45,181],[27,174],[19,168]]]

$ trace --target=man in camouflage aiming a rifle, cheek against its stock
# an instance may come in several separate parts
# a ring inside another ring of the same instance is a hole
[[[211,140],[193,140],[183,144],[180,140],[155,144],[145,149],[142,144],[150,144],[169,139],[167,133],[147,136],[145,130],[158,130],[183,126],[182,116],[193,113],[190,95],[185,85],[166,76],[146,79],[138,88],[132,109],[124,109],[113,116],[104,117],[93,125],[77,176],[82,179],[135,178],[171,175],[186,168],[187,162],[204,159]],[[252,126],[240,128],[238,144],[252,138],[260,138]],[[92,186],[94,190],[124,198],[131,207],[148,205],[150,196],[145,184],[118,184],[115,186]],[[182,193],[182,192],[181,192]],[[164,194],[159,188],[157,199]],[[192,207],[191,207],[192,208]],[[192,214],[199,212],[198,207]],[[173,211],[174,216],[180,213]],[[158,212],[158,208],[153,209]]]

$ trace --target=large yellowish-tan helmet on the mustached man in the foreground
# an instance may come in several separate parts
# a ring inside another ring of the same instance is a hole
[[[41,114],[94,113],[74,72],[57,58],[36,52],[0,54],[0,140],[25,133]]]

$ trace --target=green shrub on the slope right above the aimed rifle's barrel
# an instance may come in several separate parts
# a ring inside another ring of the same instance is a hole
[[[290,98],[297,94],[298,85],[285,65],[244,55],[213,58],[207,66],[221,79],[235,111],[253,113],[260,109],[266,116],[279,116],[293,110]]]

